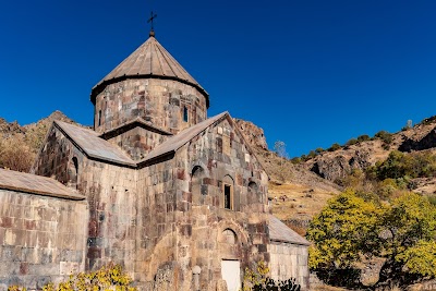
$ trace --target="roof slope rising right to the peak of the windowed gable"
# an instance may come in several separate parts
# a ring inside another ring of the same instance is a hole
[[[190,142],[192,138],[194,138],[196,135],[198,135],[204,130],[206,130],[208,126],[210,126],[215,122],[221,120],[226,116],[229,116],[229,112],[227,112],[227,111],[222,112],[218,116],[206,119],[191,128],[187,128],[187,129],[181,131],[177,135],[168,138],[166,142],[160,144],[158,147],[153,149],[150,153],[148,153],[148,155],[140,162],[152,160],[152,159],[161,157],[168,153],[175,151],[177,149],[182,147],[184,144]]]

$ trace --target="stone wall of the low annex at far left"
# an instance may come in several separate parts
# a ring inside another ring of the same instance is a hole
[[[0,190],[0,290],[83,271],[87,222],[85,202]]]

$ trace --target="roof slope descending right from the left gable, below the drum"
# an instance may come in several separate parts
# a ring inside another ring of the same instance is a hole
[[[89,157],[132,167],[136,166],[135,161],[124,151],[116,145],[98,137],[98,133],[95,131],[59,120],[55,121],[55,124]]]

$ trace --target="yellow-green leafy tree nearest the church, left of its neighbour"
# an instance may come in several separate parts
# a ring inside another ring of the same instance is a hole
[[[349,268],[362,254],[379,248],[379,211],[351,190],[328,201],[307,229],[307,239],[314,242],[310,267]]]

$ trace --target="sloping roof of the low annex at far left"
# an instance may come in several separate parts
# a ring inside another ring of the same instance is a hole
[[[0,169],[0,189],[81,201],[85,197],[55,179]]]

